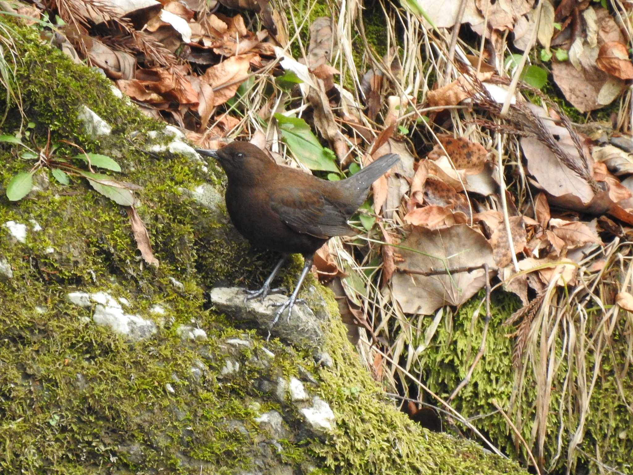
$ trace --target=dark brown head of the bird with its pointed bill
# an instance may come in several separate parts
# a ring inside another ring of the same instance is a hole
[[[229,182],[250,181],[263,174],[274,163],[259,147],[248,142],[233,142],[217,149],[197,148],[197,153],[210,156],[222,165]]]

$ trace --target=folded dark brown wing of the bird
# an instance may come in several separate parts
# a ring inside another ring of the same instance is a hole
[[[353,234],[341,206],[316,190],[286,187],[281,193],[275,193],[270,208],[296,232],[323,239]]]

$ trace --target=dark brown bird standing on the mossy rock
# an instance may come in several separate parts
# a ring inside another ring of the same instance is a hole
[[[279,304],[270,328],[285,310],[290,321],[316,250],[334,236],[354,234],[348,220],[367,198],[372,183],[399,161],[399,155],[388,153],[351,177],[328,181],[277,165],[262,149],[244,141],[196,151],[214,158],[225,171],[227,212],[237,231],[252,246],[281,253],[263,286],[247,291],[249,300],[260,297],[263,301],[271,291],[279,290],[271,289],[271,284],[287,257],[292,253],[303,255],[304,265],[294,291]]]

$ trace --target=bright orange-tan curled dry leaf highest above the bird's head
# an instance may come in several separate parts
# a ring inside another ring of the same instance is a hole
[[[240,84],[248,79],[251,63],[258,61],[260,61],[259,54],[240,54],[208,68],[201,76],[201,80],[214,89],[213,105],[219,106],[235,96]]]

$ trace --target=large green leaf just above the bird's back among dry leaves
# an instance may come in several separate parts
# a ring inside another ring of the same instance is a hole
[[[310,126],[302,118],[275,114],[282,141],[291,149],[299,162],[310,170],[341,173],[334,162],[331,150],[321,146]]]

